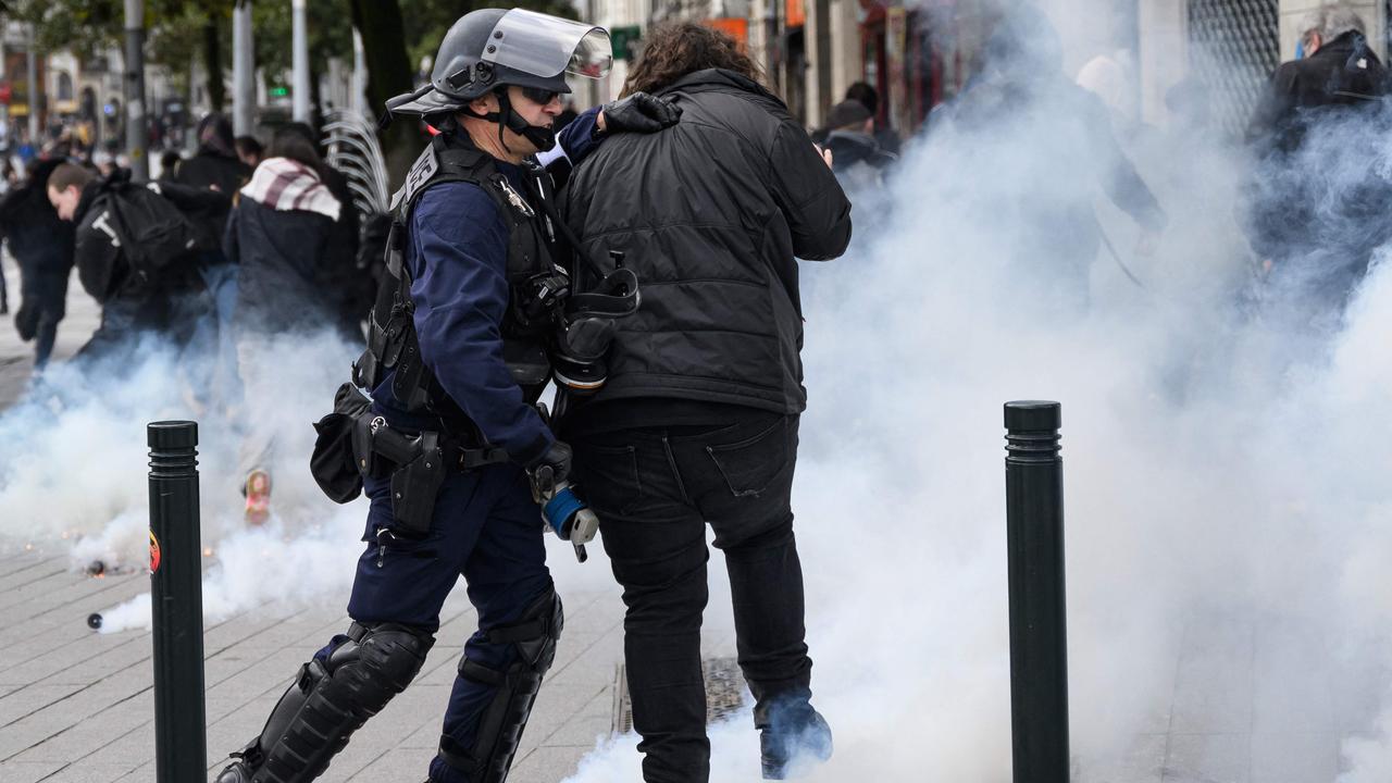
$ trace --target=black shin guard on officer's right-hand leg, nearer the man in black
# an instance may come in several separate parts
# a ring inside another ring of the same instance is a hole
[[[511,666],[498,672],[468,658],[459,662],[461,677],[497,685],[493,701],[479,718],[472,748],[459,747],[448,736],[440,741],[440,758],[468,775],[472,783],[507,780],[522,730],[541,690],[541,676],[555,660],[562,621],[561,598],[548,589],[526,607],[516,623],[489,631],[490,642],[516,646],[518,658]]]

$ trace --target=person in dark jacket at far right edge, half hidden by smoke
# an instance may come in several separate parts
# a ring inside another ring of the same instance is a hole
[[[1256,164],[1244,217],[1261,259],[1256,300],[1318,334],[1338,327],[1392,238],[1392,178],[1373,166],[1392,85],[1347,6],[1321,6],[1300,26],[1306,57],[1276,68],[1247,128]]]

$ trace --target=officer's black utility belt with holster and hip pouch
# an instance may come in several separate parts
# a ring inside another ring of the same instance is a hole
[[[319,437],[310,472],[324,495],[348,503],[365,478],[391,479],[393,534],[423,536],[436,497],[451,472],[507,463],[496,446],[470,446],[448,433],[395,428],[372,410],[372,400],[352,383],[334,394],[334,410],[315,424]]]

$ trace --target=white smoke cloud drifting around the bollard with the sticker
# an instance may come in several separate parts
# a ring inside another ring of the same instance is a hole
[[[361,552],[366,503],[338,507],[309,471],[315,431],[345,379],[355,348],[329,333],[294,334],[263,347],[278,386],[242,400],[196,387],[213,376],[212,357],[160,341],[136,351],[128,376],[111,368],[52,368],[36,390],[0,415],[0,541],[61,546],[74,570],[149,566],[149,449],[145,424],[199,422],[202,548],[210,621],[270,605],[341,600]],[[253,426],[276,432],[271,520],[244,518],[239,449]],[[288,578],[294,574],[294,578]],[[148,628],[149,595],[103,612],[103,633]]]

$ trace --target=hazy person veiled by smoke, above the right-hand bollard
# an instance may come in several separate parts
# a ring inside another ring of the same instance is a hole
[[[1140,226],[1137,254],[1153,251],[1165,213],[1122,152],[1107,107],[1063,74],[1062,42],[1043,11],[1030,4],[1009,11],[981,59],[981,71],[933,120],[970,135],[983,167],[1020,162],[1009,187],[990,191],[979,206],[999,216],[1012,258],[1048,265],[1051,309],[1082,312],[1105,240],[1093,210],[1098,188]],[[1025,137],[1034,142],[1027,155],[1013,141]]]

